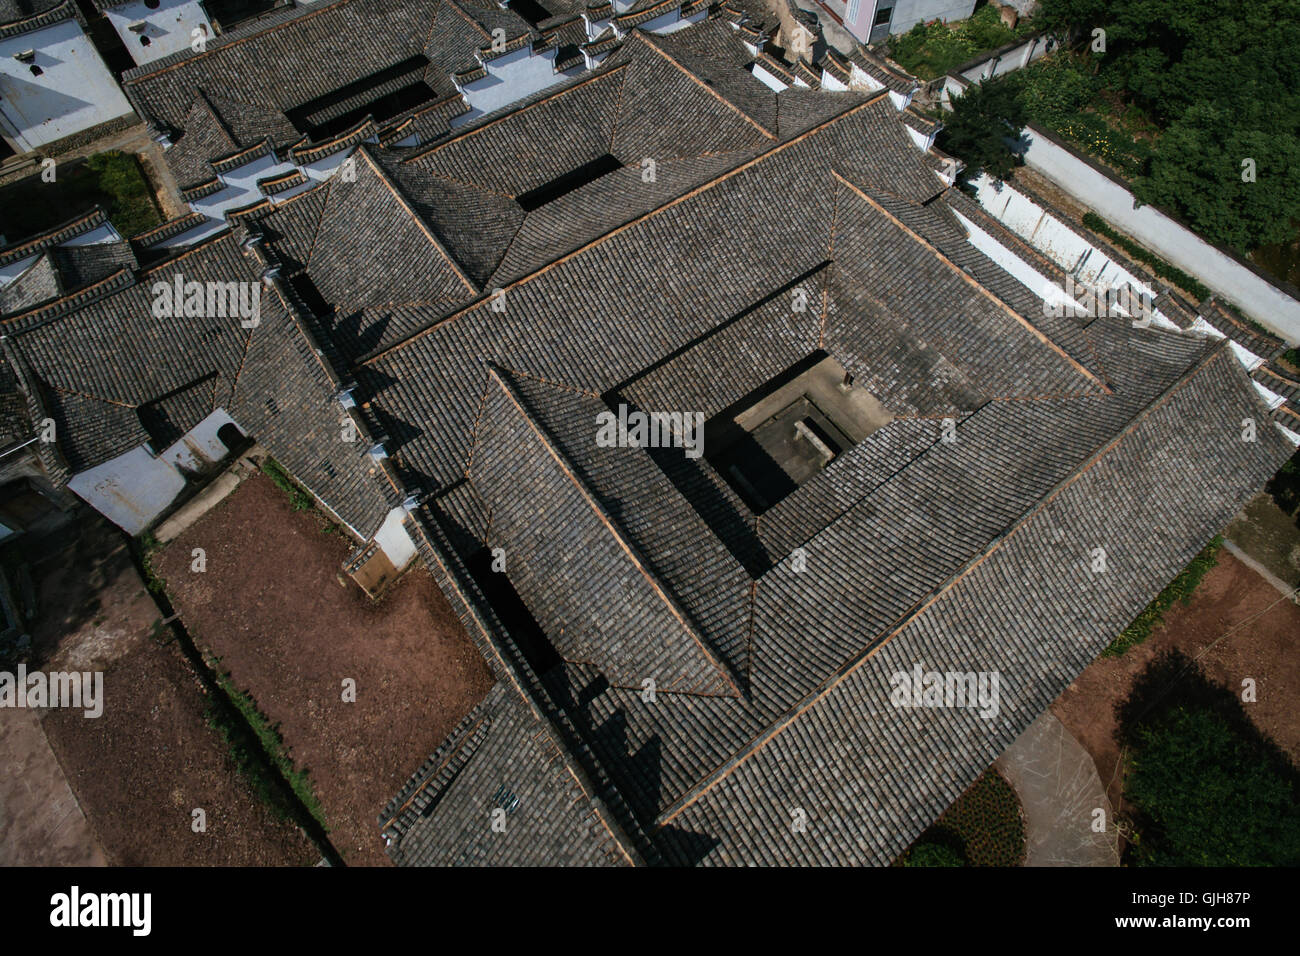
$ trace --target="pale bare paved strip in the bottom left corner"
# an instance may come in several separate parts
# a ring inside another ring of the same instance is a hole
[[[104,866],[35,710],[0,709],[0,866]]]

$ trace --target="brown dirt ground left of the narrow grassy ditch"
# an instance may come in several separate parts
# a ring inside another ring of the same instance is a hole
[[[320,855],[306,836],[274,819],[238,774],[204,718],[207,698],[188,662],[153,636],[157,606],[122,535],[82,509],[29,559],[43,609],[30,666],[103,670],[104,713],[44,711],[40,726],[57,767],[34,762],[29,741],[23,769],[31,773],[4,783],[21,783],[32,797],[34,788],[44,792],[56,808],[70,786],[78,806],[65,817],[75,822],[84,813],[90,834],[62,840],[56,857],[38,845],[38,832],[20,835],[9,862],[315,864]],[[195,834],[191,812],[200,806],[208,826]]]

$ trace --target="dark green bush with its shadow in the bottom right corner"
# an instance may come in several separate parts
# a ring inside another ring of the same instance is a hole
[[[1128,862],[1300,865],[1300,774],[1195,662],[1156,658],[1119,718],[1136,808]]]

